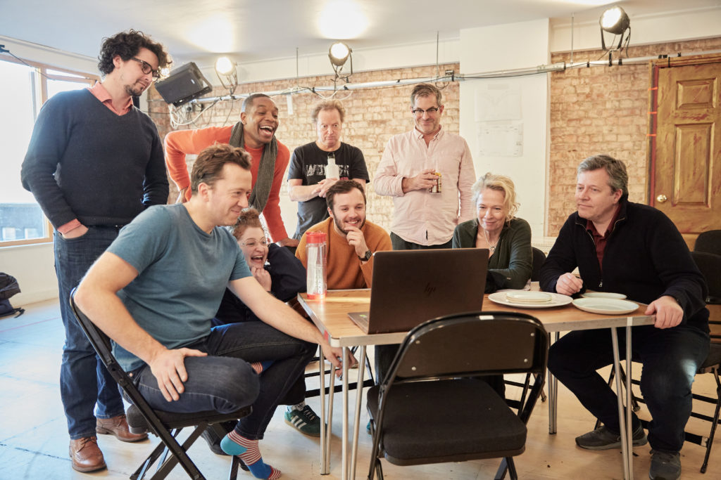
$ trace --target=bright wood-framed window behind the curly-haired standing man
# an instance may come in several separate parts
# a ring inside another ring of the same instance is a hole
[[[83,89],[97,78],[82,73],[50,70],[46,65],[19,63],[0,55],[3,79],[0,115],[2,175],[0,175],[0,247],[48,242],[53,232],[40,205],[20,184],[20,166],[30,142],[32,126],[40,106],[60,91]]]

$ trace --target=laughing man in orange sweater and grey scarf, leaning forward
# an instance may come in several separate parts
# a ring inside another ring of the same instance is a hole
[[[275,139],[278,124],[275,102],[265,94],[252,94],[243,101],[240,122],[233,126],[169,132],[165,137],[165,163],[185,202],[190,199],[185,155],[198,154],[215,143],[244,148],[252,157],[250,206],[262,212],[273,242],[295,247],[298,240],[288,237],[280,217],[280,185],[291,153]]]

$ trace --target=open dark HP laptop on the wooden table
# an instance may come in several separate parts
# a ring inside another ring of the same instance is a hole
[[[487,270],[485,248],[376,252],[370,311],[348,316],[363,332],[388,333],[443,315],[479,312]]]

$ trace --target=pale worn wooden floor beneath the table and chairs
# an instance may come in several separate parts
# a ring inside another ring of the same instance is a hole
[[[58,302],[26,305],[27,312],[17,319],[0,320],[0,479],[127,479],[157,440],[151,438],[136,444],[122,443],[101,435],[99,445],[108,468],[94,474],[72,470],[68,458],[66,420],[58,389],[59,366],[63,344],[63,325]],[[715,391],[712,376],[697,377],[696,393]],[[513,390],[509,391],[513,394]],[[283,479],[340,479],[340,397],[334,410],[331,473],[319,475],[319,442],[306,437],[283,422],[278,409],[270,422],[265,440],[260,443],[265,461],[283,471]],[[309,404],[319,412],[318,399]],[[644,416],[642,414],[642,416]],[[647,417],[647,415],[645,415]],[[366,477],[371,438],[365,433],[368,417],[363,407],[358,479]],[[419,419],[422,420],[422,419]],[[708,424],[696,427],[696,433],[707,434]],[[536,405],[528,424],[526,452],[516,458],[521,479],[621,479],[620,450],[591,452],[575,446],[573,438],[593,427],[593,419],[578,401],[559,387],[559,425],[557,435],[548,434],[547,405]],[[634,476],[647,479],[650,463],[648,445],[634,449]],[[703,449],[686,444],[681,452],[683,479],[715,480],[721,478],[721,441],[709,463],[707,474],[700,474]],[[222,479],[229,459],[213,455],[203,440],[190,450],[190,456],[207,479]],[[497,460],[465,463],[443,463],[433,466],[398,467],[384,462],[386,479],[490,479]],[[187,479],[176,468],[171,479]],[[251,479],[247,473],[239,479]]]

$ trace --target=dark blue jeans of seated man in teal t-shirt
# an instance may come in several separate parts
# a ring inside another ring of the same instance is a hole
[[[185,358],[188,379],[180,399],[167,402],[150,367],[132,372],[135,384],[154,409],[165,412],[234,412],[252,404],[253,412],[235,430],[251,440],[263,438],[275,407],[304,374],[318,345],[298,340],[264,322],[213,327],[208,337],[187,345],[208,353]],[[258,376],[250,362],[272,360]]]

